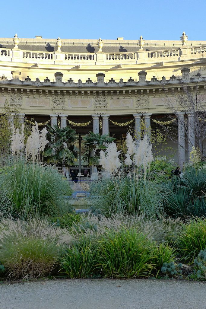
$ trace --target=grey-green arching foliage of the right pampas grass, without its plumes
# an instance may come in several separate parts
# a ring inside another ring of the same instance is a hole
[[[104,179],[97,182],[91,189],[92,195],[99,197],[102,213],[112,214],[143,214],[147,217],[160,215],[163,212],[162,190],[160,184],[123,176],[116,182]]]

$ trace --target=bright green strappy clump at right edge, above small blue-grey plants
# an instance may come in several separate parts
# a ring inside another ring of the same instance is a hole
[[[189,264],[206,247],[206,219],[192,219],[189,224],[182,223],[182,230],[175,242],[178,253]]]

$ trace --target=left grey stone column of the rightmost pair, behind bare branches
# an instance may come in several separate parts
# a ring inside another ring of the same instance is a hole
[[[185,112],[179,112],[177,122],[178,164],[181,169],[183,168],[183,163],[185,162],[184,115]]]

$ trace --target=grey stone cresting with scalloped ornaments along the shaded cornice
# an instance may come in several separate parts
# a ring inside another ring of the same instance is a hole
[[[183,68],[181,70],[182,78],[177,78],[174,74],[170,77],[170,79],[166,79],[164,76],[161,80],[158,80],[155,76],[151,78],[150,81],[146,80],[146,72],[140,71],[138,73],[139,81],[135,82],[131,77],[124,82],[122,78],[120,78],[119,82],[116,82],[113,78],[110,79],[108,83],[104,82],[105,74],[98,73],[97,83],[92,82],[90,78],[87,79],[85,83],[82,83],[82,80],[79,79],[77,83],[73,81],[72,78],[69,78],[67,82],[63,82],[63,74],[61,72],[55,73],[55,82],[51,82],[48,77],[44,79],[43,82],[40,82],[40,79],[37,77],[36,81],[32,81],[29,76],[25,78],[25,80],[20,80],[20,72],[13,72],[13,79],[8,80],[5,75],[0,77],[0,84],[15,84],[15,85],[31,85],[31,86],[59,86],[59,87],[128,87],[128,86],[152,86],[152,85],[166,85],[166,84],[179,84],[180,82],[193,82],[198,79],[199,82],[206,81],[206,77],[201,76],[201,74],[196,74],[195,77],[190,77],[190,69]]]

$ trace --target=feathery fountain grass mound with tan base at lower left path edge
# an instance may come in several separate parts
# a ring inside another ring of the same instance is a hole
[[[0,260],[10,279],[31,280],[48,276],[57,267],[63,232],[47,221],[2,219]]]

